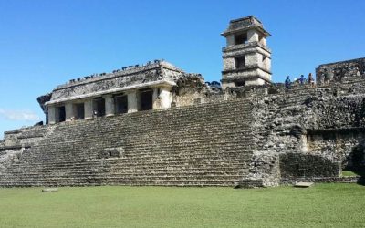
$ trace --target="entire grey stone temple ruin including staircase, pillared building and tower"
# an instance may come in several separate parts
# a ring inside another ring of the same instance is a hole
[[[0,186],[358,181],[341,171],[365,170],[365,58],[320,65],[315,86],[286,91],[258,19],[222,35],[222,87],[155,60],[39,97],[46,124],[0,141]]]

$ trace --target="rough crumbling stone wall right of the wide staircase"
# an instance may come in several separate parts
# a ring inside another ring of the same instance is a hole
[[[280,92],[277,86],[261,88],[261,92],[256,88],[251,98],[256,150],[243,186],[333,181],[353,164],[353,151],[363,148],[365,96],[328,87]],[[362,159],[356,166],[363,164]]]

